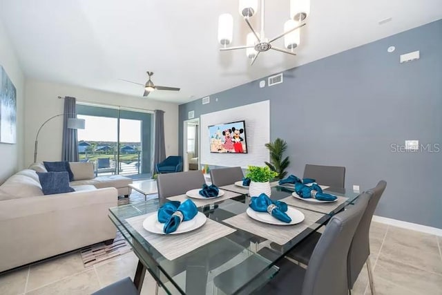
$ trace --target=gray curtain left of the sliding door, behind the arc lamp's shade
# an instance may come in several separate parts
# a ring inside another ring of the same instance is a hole
[[[61,160],[78,162],[77,129],[68,129],[68,118],[77,117],[75,97],[64,97],[63,142],[61,142]]]

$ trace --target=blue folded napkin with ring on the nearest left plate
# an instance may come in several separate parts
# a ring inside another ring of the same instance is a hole
[[[164,223],[165,234],[176,231],[182,221],[191,220],[198,213],[198,209],[192,200],[166,202],[158,209],[158,221]]]

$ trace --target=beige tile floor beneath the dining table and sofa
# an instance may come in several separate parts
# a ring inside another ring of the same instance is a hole
[[[138,199],[144,196],[131,196],[131,202]],[[372,222],[370,247],[378,295],[442,295],[442,237]],[[0,294],[90,294],[120,278],[133,278],[136,266],[130,252],[84,268],[77,251],[0,275]],[[142,294],[154,290],[147,274]],[[352,294],[371,294],[365,267]]]

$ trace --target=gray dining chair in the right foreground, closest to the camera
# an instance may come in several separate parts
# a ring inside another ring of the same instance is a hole
[[[311,255],[307,269],[286,258],[276,261],[280,271],[269,283],[253,294],[347,294],[347,256],[354,232],[367,207],[369,193],[363,193],[352,208],[333,216]],[[273,251],[267,249],[267,252]],[[261,254],[262,250],[258,251]],[[269,257],[269,254],[262,256]],[[270,260],[274,260],[269,258]],[[242,262],[213,278],[216,287],[230,294],[238,287],[240,275],[249,267]],[[241,268],[241,269],[238,269]],[[235,274],[234,276],[232,274]],[[238,279],[236,279],[238,278]]]

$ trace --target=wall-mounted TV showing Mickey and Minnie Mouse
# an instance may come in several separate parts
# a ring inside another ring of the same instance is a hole
[[[247,153],[244,121],[209,126],[211,153]]]

